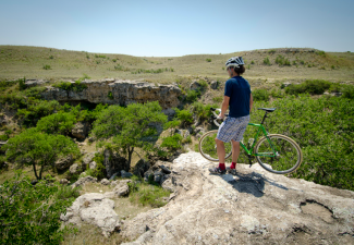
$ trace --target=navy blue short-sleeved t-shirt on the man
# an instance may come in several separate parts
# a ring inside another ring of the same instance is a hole
[[[234,76],[228,79],[224,95],[230,97],[230,118],[241,118],[249,114],[251,86],[245,78]]]

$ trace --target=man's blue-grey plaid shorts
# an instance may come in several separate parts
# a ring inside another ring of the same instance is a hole
[[[249,122],[249,114],[242,118],[227,118],[220,125],[217,138],[228,143],[241,142]]]

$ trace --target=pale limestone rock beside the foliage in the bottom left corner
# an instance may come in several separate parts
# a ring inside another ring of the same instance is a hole
[[[119,217],[115,213],[114,201],[108,199],[103,194],[88,193],[76,198],[68,208],[66,215],[60,219],[65,223],[81,225],[82,222],[97,225],[102,234],[108,237],[111,232],[120,229]]]

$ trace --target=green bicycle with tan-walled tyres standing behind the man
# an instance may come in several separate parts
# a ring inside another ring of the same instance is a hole
[[[216,110],[220,109],[210,109],[213,113],[211,120],[217,126],[220,126],[218,123],[218,115]],[[248,123],[249,126],[258,127],[257,133],[254,138],[249,138],[248,145],[249,149],[245,144],[240,142],[240,156],[245,154],[249,161],[249,167],[253,164],[252,160],[254,157],[257,159],[258,163],[267,171],[277,173],[277,174],[286,174],[295,171],[303,161],[303,154],[295,140],[292,138],[281,135],[281,134],[268,134],[264,123],[268,113],[271,113],[276,108],[258,108],[258,110],[264,110],[265,115],[260,124]],[[220,110],[221,111],[221,110]],[[225,114],[228,117],[228,114]],[[263,137],[258,139],[259,134],[264,134]],[[218,131],[209,131],[205,133],[199,139],[199,152],[202,156],[210,161],[219,161],[217,154],[217,145],[215,138],[217,137]],[[230,158],[232,155],[232,144],[225,143],[225,159]],[[240,157],[239,157],[240,159]]]

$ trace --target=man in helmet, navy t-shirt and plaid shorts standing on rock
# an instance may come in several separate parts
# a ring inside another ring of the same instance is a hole
[[[220,125],[217,138],[217,151],[219,167],[209,169],[210,173],[224,174],[236,173],[236,163],[240,155],[240,142],[249,122],[249,112],[253,106],[253,97],[248,82],[241,75],[245,72],[242,57],[233,57],[225,63],[230,79],[225,83],[224,97],[221,112],[218,118],[223,119],[229,108],[229,117]],[[232,163],[225,168],[225,149],[223,143],[232,143]]]

